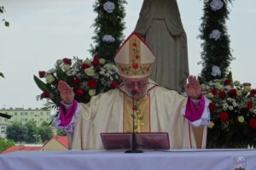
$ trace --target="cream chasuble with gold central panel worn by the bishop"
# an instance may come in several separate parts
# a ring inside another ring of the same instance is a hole
[[[132,131],[132,110],[136,114],[136,131],[167,132],[171,149],[205,148],[207,126],[194,134],[192,125],[182,116],[186,101],[176,91],[154,83],[148,84],[147,94],[135,101],[139,102],[135,106],[132,106],[131,97],[123,86],[94,96],[90,103],[79,104],[76,127],[73,133],[68,134],[69,149],[102,150],[100,133]]]

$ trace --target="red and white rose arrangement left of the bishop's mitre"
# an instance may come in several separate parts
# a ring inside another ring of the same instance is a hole
[[[44,82],[41,80],[44,79]],[[61,97],[57,89],[60,80],[73,88],[75,99],[88,103],[96,94],[117,88],[120,83],[116,66],[98,56],[93,59],[58,59],[55,68],[38,71],[34,80],[43,93],[37,99],[46,99],[47,108],[58,108]]]

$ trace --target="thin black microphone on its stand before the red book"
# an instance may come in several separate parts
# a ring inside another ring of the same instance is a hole
[[[131,99],[132,99],[132,134],[131,134],[131,150],[125,150],[125,153],[143,153],[143,150],[137,150],[137,140],[136,140],[136,135],[134,132],[134,95],[137,94],[136,90],[132,90],[131,91]]]

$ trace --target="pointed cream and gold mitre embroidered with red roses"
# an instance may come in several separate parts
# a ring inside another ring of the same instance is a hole
[[[133,32],[117,51],[114,61],[122,77],[148,77],[154,54],[143,38]]]

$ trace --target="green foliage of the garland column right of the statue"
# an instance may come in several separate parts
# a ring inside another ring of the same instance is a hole
[[[226,77],[230,61],[233,59],[230,52],[230,36],[226,28],[226,20],[229,19],[228,15],[230,14],[228,4],[232,0],[222,0],[222,2],[224,3],[222,8],[214,11],[210,5],[212,0],[204,0],[204,14],[201,18],[201,35],[199,37],[203,41],[201,43],[201,64],[203,66],[201,77],[207,82],[214,78]],[[213,30],[221,32],[221,36],[216,40],[210,37]],[[212,76],[213,65],[220,68],[220,76]]]

